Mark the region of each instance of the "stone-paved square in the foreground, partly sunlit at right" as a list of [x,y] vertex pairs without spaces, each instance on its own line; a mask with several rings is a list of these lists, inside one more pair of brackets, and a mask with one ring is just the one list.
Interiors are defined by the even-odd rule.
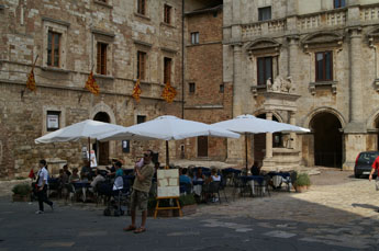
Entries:
[[[323,170],[305,193],[200,205],[183,218],[148,218],[147,231],[123,232],[130,217],[76,203],[34,215],[36,203],[0,201],[2,250],[379,250],[374,182]],[[232,201],[232,202],[231,202]]]

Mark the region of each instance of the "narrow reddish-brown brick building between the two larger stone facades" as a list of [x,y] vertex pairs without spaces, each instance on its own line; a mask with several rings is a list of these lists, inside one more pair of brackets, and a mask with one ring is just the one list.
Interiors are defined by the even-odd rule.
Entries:
[[[232,84],[223,83],[222,1],[186,12],[185,117],[203,123],[232,118]],[[226,139],[188,139],[187,158],[225,160]]]

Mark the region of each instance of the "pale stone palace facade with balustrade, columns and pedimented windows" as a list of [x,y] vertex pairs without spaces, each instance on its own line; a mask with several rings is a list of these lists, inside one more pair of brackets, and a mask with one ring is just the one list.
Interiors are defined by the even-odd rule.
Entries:
[[[263,150],[254,159],[352,169],[359,151],[378,150],[378,32],[374,0],[224,0],[223,81],[233,84],[233,116],[312,130],[252,137]],[[227,157],[241,160],[242,149],[230,140]]]

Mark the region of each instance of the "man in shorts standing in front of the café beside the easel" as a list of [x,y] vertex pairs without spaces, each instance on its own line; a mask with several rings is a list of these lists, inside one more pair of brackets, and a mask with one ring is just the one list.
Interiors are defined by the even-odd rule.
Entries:
[[[135,179],[133,184],[133,192],[131,196],[131,214],[132,214],[132,225],[124,228],[124,231],[134,230],[135,233],[141,233],[146,231],[146,218],[147,218],[147,201],[148,192],[152,186],[152,179],[154,175],[154,164],[152,163],[153,151],[147,150],[144,153],[143,162],[138,162],[134,166]],[[136,228],[135,225],[135,214],[136,207],[142,210],[142,221],[141,226]]]

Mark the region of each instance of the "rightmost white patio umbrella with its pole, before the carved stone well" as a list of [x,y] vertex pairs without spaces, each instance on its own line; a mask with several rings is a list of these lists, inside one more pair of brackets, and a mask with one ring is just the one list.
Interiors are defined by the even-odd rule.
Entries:
[[245,153],[246,153],[246,172],[247,172],[247,134],[264,134],[277,132],[309,133],[310,129],[294,126],[286,123],[268,121],[255,117],[253,115],[239,115],[233,119],[223,121],[212,124],[220,128],[228,129],[238,134],[245,134]]

